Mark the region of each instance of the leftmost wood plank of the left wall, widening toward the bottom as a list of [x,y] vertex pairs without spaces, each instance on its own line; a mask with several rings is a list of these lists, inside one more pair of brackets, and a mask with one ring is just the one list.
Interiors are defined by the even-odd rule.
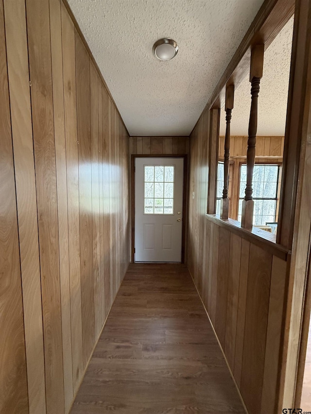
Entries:
[[3,1],[0,1],[0,79],[0,412],[27,414],[23,303]]

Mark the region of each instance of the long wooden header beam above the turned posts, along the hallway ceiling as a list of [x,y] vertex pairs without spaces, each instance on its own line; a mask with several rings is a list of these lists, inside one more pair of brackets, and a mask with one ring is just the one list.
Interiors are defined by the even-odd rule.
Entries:
[[252,46],[256,43],[264,43],[267,49],[282,27],[293,16],[294,4],[295,0],[265,0],[263,2],[190,135],[206,111],[211,107],[221,108],[224,105],[226,83],[233,84],[235,89],[239,86],[249,70]]

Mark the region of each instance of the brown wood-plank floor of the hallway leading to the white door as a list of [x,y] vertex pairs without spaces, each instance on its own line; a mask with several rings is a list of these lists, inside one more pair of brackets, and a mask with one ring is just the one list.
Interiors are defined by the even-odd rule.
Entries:
[[186,265],[131,264],[71,414],[245,413]]

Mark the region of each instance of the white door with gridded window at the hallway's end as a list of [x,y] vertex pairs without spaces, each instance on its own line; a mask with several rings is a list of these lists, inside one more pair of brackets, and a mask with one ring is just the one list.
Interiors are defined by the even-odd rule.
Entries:
[[181,262],[183,158],[136,158],[135,262]]

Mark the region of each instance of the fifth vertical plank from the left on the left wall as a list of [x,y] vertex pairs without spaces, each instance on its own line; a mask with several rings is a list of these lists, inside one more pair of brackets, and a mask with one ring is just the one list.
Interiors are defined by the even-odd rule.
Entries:
[[73,391],[75,393],[83,374],[75,34],[74,25],[63,3],[61,4],[61,21],[67,166],[72,378]]

